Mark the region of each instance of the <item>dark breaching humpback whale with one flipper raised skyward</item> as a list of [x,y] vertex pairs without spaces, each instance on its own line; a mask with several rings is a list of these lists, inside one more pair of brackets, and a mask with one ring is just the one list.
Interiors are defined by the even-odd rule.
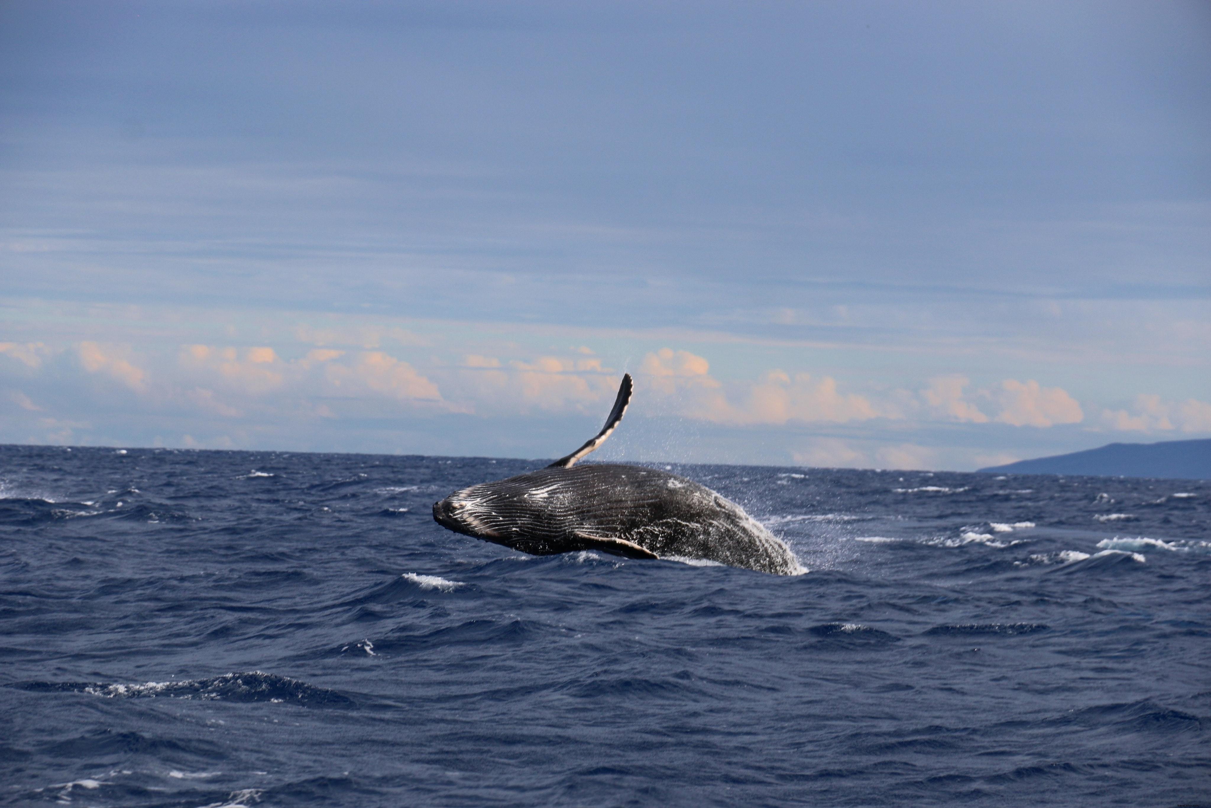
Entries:
[[624,374],[606,425],[572,454],[545,469],[455,491],[434,503],[434,520],[533,555],[601,550],[779,575],[805,572],[786,544],[706,486],[637,465],[575,465],[618,428],[632,388],[631,374]]

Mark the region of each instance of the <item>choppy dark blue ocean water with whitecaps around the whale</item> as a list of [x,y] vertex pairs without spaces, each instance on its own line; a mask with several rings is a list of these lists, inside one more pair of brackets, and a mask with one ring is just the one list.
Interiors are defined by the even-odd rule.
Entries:
[[793,578],[432,522],[535,465],[0,447],[0,801],[1211,802],[1211,483],[673,468]]

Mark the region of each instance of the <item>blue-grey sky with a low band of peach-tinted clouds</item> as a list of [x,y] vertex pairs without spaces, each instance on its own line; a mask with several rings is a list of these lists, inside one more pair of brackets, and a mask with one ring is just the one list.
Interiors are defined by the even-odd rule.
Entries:
[[1211,436],[1211,5],[0,4],[0,443]]

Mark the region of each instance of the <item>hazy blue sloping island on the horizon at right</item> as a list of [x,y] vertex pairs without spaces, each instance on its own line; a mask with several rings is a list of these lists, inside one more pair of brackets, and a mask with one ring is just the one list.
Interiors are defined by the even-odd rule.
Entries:
[[1211,480],[1211,439],[1160,443],[1109,443],[1085,452],[1018,460],[980,471]]

